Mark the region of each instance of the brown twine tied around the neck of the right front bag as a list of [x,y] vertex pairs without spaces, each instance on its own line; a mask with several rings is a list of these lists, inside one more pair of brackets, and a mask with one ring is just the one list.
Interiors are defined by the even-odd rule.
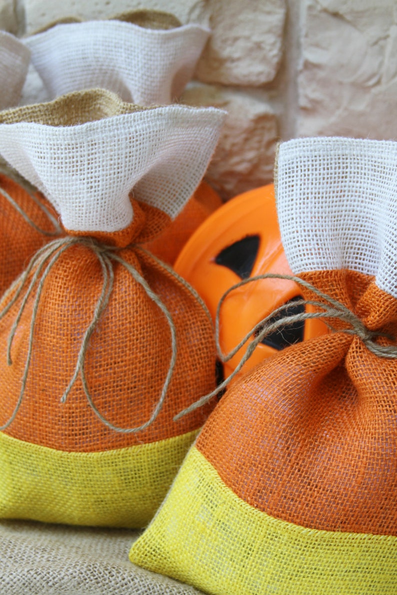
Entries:
[[[300,314],[295,314],[292,316],[285,315],[279,318],[278,320],[270,322],[272,318],[276,317],[279,314],[283,314],[287,311],[287,309],[289,308],[289,304],[285,303],[279,308],[274,309],[273,312],[271,312],[271,314],[267,315],[267,317],[263,318],[260,322],[258,322],[258,324],[256,324],[255,327],[252,328],[251,331],[249,331],[249,333],[245,335],[245,337],[243,337],[243,339],[234,349],[232,349],[229,353],[225,354],[221,349],[219,339],[221,306],[230,292],[246,285],[247,283],[252,283],[253,281],[260,281],[261,279],[285,279],[287,281],[295,281],[295,283],[298,283],[300,286],[304,287],[307,290],[310,290],[312,293],[323,299],[325,303],[319,302],[317,300],[301,299],[296,300],[294,302],[294,305],[311,305],[315,308],[321,308],[322,311],[301,312]],[[211,393],[205,394],[203,397],[201,397],[201,399],[197,400],[195,403],[192,403],[192,405],[190,405],[186,409],[183,409],[183,411],[180,411],[179,414],[177,414],[174,417],[174,421],[177,421],[184,415],[187,415],[190,412],[195,411],[195,409],[202,407],[203,405],[205,405],[205,403],[211,400],[212,397],[220,393],[222,390],[226,389],[228,384],[230,384],[230,381],[233,380],[233,378],[239,373],[240,369],[243,367],[245,362],[251,357],[256,347],[268,335],[274,333],[274,331],[276,330],[280,330],[286,324],[293,324],[294,322],[304,322],[305,320],[308,320],[308,318],[323,318],[324,323],[333,333],[345,333],[350,334],[352,336],[357,336],[359,339],[361,339],[361,341],[364,343],[365,347],[367,347],[368,350],[370,350],[372,353],[379,356],[380,358],[397,359],[397,346],[379,345],[379,343],[377,343],[375,340],[377,337],[385,337],[386,339],[395,341],[395,337],[387,333],[382,333],[380,331],[368,330],[368,328],[365,327],[364,323],[360,320],[360,318],[358,318],[358,316],[356,316],[354,312],[347,308],[345,304],[339,302],[339,300],[336,300],[333,297],[327,295],[327,293],[321,292],[319,289],[317,289],[317,287],[314,287],[307,281],[304,281],[299,277],[295,277],[294,275],[280,275],[276,273],[256,275],[255,277],[249,277],[240,281],[240,283],[236,283],[232,287],[229,287],[229,289],[227,289],[226,292],[224,292],[223,296],[218,302],[217,311],[215,314],[215,345],[217,347],[218,357],[221,359],[223,363],[226,363],[230,359],[232,359],[236,355],[236,353],[241,349],[241,347],[243,347],[248,342],[248,340],[252,337],[252,334],[254,334],[254,339],[252,339],[249,343],[245,354],[243,355],[242,359],[240,359],[239,364],[237,364],[237,367],[233,370],[232,374],[225,378],[225,380],[221,384],[219,384],[217,388],[213,390]],[[332,324],[330,324],[328,320],[332,318],[336,318],[342,322],[345,322],[349,325],[349,327],[336,329],[332,326]]]

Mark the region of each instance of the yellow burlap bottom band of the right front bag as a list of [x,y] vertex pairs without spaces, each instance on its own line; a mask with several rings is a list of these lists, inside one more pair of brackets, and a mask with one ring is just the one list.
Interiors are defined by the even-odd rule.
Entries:
[[226,487],[196,447],[130,560],[215,595],[397,593],[397,537],[268,516]]

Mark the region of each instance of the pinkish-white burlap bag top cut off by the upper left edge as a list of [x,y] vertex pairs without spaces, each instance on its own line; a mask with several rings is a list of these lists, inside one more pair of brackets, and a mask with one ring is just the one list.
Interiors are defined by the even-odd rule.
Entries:
[[11,33],[0,31],[0,109],[18,104],[29,62],[29,48]]

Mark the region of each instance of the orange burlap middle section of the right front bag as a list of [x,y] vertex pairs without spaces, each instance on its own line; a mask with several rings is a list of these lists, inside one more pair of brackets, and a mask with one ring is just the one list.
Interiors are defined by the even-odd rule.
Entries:
[[[397,336],[397,300],[370,275],[299,276],[348,306],[368,330]],[[302,294],[318,299],[303,287]],[[289,347],[233,385],[196,446],[226,486],[268,515],[397,536],[397,361],[330,322],[339,332]]]

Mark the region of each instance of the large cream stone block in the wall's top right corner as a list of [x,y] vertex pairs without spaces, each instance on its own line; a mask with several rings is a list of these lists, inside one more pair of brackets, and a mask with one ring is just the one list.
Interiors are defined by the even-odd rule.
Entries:
[[298,135],[397,137],[395,0],[307,0]]

